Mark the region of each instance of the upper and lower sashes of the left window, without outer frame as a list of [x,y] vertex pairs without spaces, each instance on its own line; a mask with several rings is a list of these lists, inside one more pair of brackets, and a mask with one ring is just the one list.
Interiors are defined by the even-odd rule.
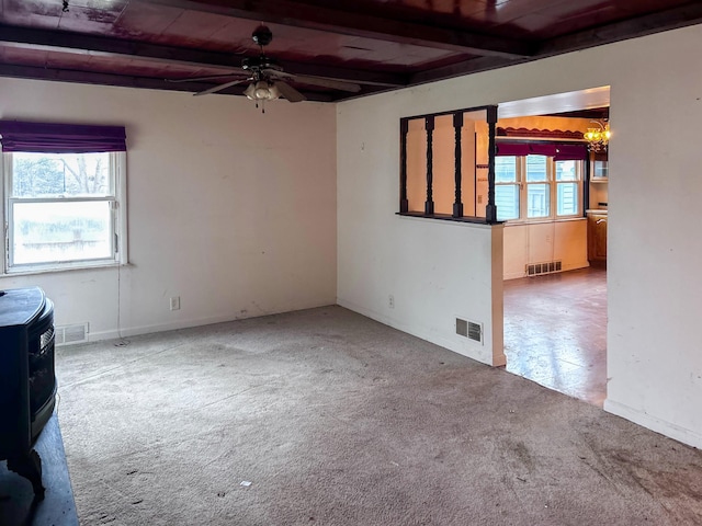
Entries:
[[11,265],[114,258],[111,153],[13,153]]

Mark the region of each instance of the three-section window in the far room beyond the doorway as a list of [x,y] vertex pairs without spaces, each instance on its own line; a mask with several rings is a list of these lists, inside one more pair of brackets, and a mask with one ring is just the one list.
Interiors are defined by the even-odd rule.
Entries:
[[581,213],[582,161],[547,156],[495,158],[495,203],[500,221],[555,219]]

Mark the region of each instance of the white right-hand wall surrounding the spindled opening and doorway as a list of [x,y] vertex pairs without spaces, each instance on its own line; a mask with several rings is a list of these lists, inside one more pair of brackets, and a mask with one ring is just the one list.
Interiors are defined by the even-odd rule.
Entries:
[[338,301],[449,348],[489,323],[485,230],[394,215],[399,117],[611,85],[605,409],[702,446],[700,57],[693,26],[339,104]]

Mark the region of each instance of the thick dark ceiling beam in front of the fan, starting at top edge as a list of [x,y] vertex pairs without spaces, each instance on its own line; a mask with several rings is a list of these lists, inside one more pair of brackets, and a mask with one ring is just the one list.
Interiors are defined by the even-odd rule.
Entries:
[[[529,57],[530,44],[427,23],[341,11],[291,0],[132,0],[271,24],[319,30],[477,56]],[[331,2],[330,2],[331,4]]]

